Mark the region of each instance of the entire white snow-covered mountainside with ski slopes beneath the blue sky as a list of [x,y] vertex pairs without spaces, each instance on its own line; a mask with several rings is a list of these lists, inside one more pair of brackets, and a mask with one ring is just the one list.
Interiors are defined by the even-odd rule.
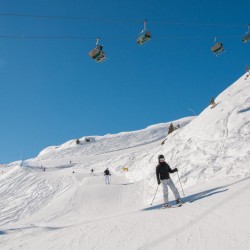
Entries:
[[[1,165],[0,249],[250,249],[250,78],[215,102],[169,135],[171,122],[88,136]],[[150,205],[159,154],[181,207],[160,209],[161,186]]]

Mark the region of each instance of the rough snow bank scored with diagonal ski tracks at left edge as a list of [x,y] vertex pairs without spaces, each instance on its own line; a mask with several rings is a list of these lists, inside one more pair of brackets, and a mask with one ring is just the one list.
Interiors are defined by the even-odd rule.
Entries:
[[51,181],[41,175],[43,172],[37,174],[17,167],[1,181],[0,226],[32,215],[70,185],[67,183],[65,186],[65,178]]

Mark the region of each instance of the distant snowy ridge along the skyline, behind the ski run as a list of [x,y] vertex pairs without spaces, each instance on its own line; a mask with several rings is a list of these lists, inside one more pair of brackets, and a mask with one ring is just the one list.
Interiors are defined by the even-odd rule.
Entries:
[[[181,127],[188,124],[193,117],[187,117],[174,121]],[[76,145],[76,140],[71,140],[60,146],[51,146],[40,152],[40,160],[46,158],[63,158],[64,156],[79,156],[105,154],[108,152],[138,147],[150,144],[155,141],[163,140],[166,137],[170,122],[149,126],[146,129],[121,132],[118,134],[108,134],[105,136],[90,136],[94,142],[85,142],[85,137],[80,138],[80,144]],[[88,136],[89,138],[89,136]]]

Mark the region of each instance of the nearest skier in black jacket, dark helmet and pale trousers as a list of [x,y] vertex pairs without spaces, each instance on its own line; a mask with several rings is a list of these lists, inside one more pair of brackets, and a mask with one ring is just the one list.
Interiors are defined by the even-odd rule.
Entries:
[[174,197],[176,199],[176,204],[181,205],[183,201],[181,200],[180,194],[169,176],[169,174],[177,172],[178,169],[177,168],[171,169],[170,166],[165,162],[165,158],[163,155],[158,156],[158,162],[159,164],[156,167],[156,178],[158,185],[162,184],[163,200],[164,200],[163,206],[166,208],[171,207],[168,204],[168,186],[170,187],[170,189],[174,194]]

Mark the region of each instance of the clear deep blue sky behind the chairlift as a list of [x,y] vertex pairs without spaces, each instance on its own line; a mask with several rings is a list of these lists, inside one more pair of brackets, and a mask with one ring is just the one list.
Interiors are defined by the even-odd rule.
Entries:
[[[0,163],[199,114],[250,64],[249,9],[249,0],[0,0]],[[145,18],[153,38],[139,47]],[[88,57],[96,37],[101,64]]]

